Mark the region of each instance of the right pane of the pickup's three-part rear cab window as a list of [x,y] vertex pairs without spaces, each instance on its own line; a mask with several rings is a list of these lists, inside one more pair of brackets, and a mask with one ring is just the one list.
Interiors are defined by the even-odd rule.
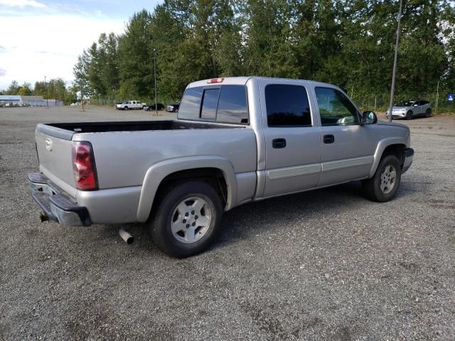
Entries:
[[216,121],[233,124],[248,123],[247,91],[244,86],[221,87]]

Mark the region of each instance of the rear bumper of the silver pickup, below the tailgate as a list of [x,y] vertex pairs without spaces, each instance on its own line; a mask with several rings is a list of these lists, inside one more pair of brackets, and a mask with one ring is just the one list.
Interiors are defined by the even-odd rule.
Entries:
[[92,220],[86,207],[71,201],[41,173],[28,174],[31,196],[50,220],[70,226],[90,226]]

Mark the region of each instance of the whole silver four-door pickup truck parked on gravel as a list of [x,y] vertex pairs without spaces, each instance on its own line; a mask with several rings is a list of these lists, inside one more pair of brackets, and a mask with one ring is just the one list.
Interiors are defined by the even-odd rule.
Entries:
[[245,202],[362,180],[392,199],[414,151],[410,129],[360,112],[338,87],[230,77],[193,82],[176,121],[38,124],[45,219],[144,222],[171,256],[206,249],[223,211]]

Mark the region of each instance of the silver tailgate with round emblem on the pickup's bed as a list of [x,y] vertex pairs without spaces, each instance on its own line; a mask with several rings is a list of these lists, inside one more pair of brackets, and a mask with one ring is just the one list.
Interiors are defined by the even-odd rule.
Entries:
[[[36,150],[40,162],[40,171],[55,185],[75,197],[73,175],[73,141],[71,135],[63,136],[52,131],[62,130],[39,124],[36,129]],[[55,131],[58,133],[58,131]],[[68,137],[70,138],[68,140]]]

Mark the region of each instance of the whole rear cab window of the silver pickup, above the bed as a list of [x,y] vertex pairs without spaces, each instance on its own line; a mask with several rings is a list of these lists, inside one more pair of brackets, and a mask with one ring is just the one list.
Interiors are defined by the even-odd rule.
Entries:
[[183,94],[178,119],[249,124],[245,85],[191,87]]

